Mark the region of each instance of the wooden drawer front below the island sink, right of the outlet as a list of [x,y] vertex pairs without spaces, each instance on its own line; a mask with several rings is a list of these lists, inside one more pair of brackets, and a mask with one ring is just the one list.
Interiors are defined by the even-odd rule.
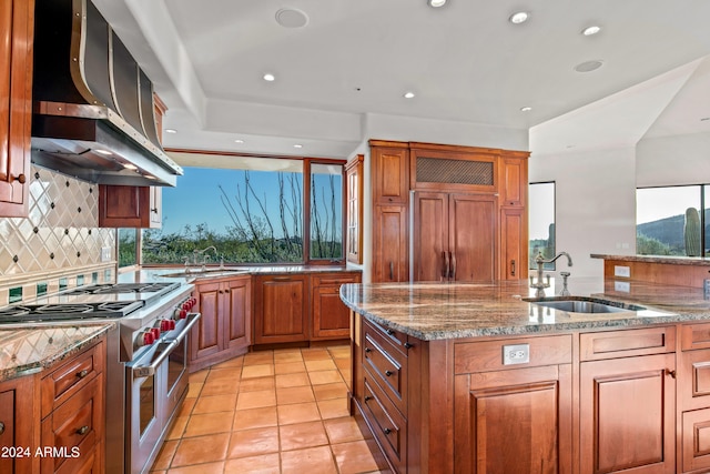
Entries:
[[676,327],[649,327],[579,335],[580,360],[632,357],[676,351]]

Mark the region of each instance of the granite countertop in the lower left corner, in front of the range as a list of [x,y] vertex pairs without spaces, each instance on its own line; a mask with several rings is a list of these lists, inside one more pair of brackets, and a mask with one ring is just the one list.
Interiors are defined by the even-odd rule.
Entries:
[[0,329],[0,382],[49,367],[103,336],[114,323]]

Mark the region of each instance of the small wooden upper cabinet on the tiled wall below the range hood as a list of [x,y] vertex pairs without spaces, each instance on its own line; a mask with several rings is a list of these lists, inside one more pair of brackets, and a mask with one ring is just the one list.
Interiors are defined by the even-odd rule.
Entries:
[[160,228],[162,188],[99,185],[100,228]]

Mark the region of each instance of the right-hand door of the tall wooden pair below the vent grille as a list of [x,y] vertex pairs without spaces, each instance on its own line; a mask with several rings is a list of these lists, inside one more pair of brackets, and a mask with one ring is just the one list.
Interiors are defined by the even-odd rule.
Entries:
[[456,281],[493,281],[497,276],[496,198],[452,194],[448,249]]

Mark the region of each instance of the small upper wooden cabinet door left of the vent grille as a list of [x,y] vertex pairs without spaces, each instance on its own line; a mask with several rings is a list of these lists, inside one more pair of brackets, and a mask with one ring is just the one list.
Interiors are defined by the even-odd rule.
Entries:
[[[409,193],[409,149],[406,143],[371,140],[374,204],[406,204]],[[385,145],[386,144],[386,145]]]

